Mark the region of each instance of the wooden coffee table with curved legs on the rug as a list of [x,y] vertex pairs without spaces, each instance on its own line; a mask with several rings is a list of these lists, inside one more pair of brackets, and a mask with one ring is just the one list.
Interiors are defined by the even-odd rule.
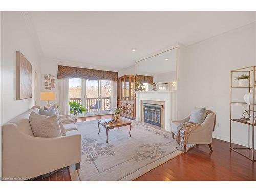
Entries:
[[[131,129],[132,129],[131,121],[128,121],[126,119],[120,119],[121,120],[120,122],[113,123],[113,124],[104,124],[103,123],[103,122],[109,122],[110,120],[111,119],[100,119],[98,122],[98,127],[99,127],[99,125],[101,125],[101,126],[105,127],[105,129],[106,129],[106,142],[107,143],[109,142],[109,129],[118,128],[118,130],[120,130],[120,127],[129,125],[130,126],[129,135],[130,135],[130,137],[132,137],[131,136]],[[100,132],[100,129],[99,129],[99,132]]]

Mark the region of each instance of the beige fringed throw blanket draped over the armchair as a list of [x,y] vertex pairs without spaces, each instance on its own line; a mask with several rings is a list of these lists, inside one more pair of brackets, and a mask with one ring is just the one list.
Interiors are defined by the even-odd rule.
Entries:
[[[207,110],[206,111],[206,117],[208,114],[213,113],[214,114],[214,128],[215,128],[215,122],[216,122],[216,115],[213,111]],[[176,141],[180,145],[180,148],[178,150],[182,150],[182,147],[187,145],[189,136],[191,135],[191,132],[200,125],[201,123],[194,123],[194,122],[185,122],[178,126],[177,134],[176,134]]]

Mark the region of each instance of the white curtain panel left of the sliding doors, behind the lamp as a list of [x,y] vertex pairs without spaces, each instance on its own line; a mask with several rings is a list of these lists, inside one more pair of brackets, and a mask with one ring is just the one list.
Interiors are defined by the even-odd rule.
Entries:
[[58,79],[57,102],[61,115],[70,114],[69,111],[69,79]]

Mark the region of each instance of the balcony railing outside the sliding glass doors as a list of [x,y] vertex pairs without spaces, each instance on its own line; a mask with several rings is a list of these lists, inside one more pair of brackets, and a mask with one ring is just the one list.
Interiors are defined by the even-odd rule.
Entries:
[[[76,101],[76,103],[82,105],[81,98],[70,98],[69,100],[71,102]],[[86,103],[84,107],[87,108],[87,113],[91,113],[91,112],[99,113],[100,111],[99,109],[105,112],[111,110],[111,97],[101,97],[101,102],[99,102],[98,106],[96,106],[98,100],[99,99],[97,97],[86,98]]]

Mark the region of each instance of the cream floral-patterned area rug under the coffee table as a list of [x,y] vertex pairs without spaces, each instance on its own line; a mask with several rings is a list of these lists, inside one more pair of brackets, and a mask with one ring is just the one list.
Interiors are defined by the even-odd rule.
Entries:
[[181,154],[169,132],[160,131],[138,122],[106,130],[98,121],[77,123],[82,135],[82,161],[78,176],[81,181],[132,181],[151,169]]

